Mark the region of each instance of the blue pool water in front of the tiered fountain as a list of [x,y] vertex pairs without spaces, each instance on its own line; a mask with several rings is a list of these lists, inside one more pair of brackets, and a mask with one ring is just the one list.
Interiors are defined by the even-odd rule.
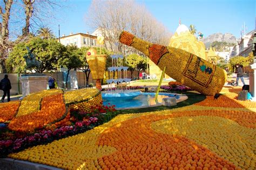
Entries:
[[[136,108],[136,107],[146,107],[156,105],[156,101],[154,100],[154,96],[156,93],[142,93],[137,97],[134,98],[123,98],[123,97],[111,97],[111,98],[104,98],[103,105],[116,105],[117,109],[123,108]],[[166,97],[174,97],[174,94],[167,94],[167,93],[159,93],[158,94],[158,103],[163,102],[163,98]],[[176,99],[179,99],[179,96],[175,96]]]

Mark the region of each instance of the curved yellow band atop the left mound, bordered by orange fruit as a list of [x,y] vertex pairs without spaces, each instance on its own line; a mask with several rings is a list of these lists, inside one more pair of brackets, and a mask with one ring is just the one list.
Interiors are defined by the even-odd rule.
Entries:
[[59,89],[51,89],[29,94],[28,96],[22,99],[21,106],[19,106],[19,110],[16,117],[38,111],[40,108],[40,101],[43,97],[58,93],[63,93],[63,91]]

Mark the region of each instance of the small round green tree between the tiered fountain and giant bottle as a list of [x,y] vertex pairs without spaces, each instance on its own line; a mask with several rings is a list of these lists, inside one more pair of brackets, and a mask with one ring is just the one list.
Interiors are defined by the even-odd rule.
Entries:
[[[140,71],[140,70],[146,69],[146,63],[147,63],[146,59],[135,53],[132,53],[131,55],[127,56],[126,62],[131,72],[131,78],[133,78],[132,73],[134,72],[134,70]],[[138,79],[139,79],[139,72],[138,72]]]

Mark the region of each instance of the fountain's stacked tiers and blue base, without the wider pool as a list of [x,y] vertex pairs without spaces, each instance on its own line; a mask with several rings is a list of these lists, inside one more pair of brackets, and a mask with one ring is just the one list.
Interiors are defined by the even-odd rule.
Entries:
[[[108,67],[110,79],[106,80],[108,90],[102,92],[104,100],[120,98],[129,100],[142,94],[139,90],[129,90],[127,85],[132,79],[127,78],[128,67],[123,66],[123,55],[112,55],[112,67]],[[114,88],[111,88],[114,86]]]

